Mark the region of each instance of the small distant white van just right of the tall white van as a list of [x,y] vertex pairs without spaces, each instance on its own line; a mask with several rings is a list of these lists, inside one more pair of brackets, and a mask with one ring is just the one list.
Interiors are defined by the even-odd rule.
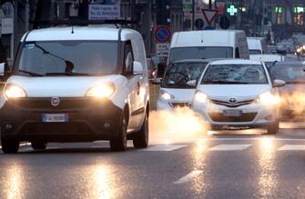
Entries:
[[249,55],[267,54],[267,44],[263,37],[247,37]]

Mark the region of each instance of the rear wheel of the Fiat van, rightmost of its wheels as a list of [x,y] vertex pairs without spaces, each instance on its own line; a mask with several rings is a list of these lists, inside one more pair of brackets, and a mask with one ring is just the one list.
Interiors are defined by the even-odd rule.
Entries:
[[133,135],[133,144],[136,148],[147,148],[148,145],[148,116],[145,114],[141,130]]

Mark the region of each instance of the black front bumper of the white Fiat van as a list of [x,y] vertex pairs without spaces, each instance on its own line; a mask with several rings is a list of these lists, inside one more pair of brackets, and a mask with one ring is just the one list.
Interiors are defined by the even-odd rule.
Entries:
[[[51,98],[6,101],[0,109],[1,137],[19,141],[90,142],[117,136],[123,110],[110,100]],[[46,123],[43,114],[66,114],[66,122]]]

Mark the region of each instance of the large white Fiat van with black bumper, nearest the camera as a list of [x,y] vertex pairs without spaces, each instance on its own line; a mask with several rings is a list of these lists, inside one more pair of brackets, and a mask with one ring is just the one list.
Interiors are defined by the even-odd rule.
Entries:
[[[127,139],[147,147],[149,88],[142,35],[101,25],[33,30],[20,41],[0,97],[1,144],[46,149],[48,142]],[[3,64],[0,74],[3,75]]]

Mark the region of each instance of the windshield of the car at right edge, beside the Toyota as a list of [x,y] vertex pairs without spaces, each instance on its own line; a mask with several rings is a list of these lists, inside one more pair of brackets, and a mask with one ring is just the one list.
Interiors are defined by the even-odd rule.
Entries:
[[302,65],[273,65],[270,75],[273,79],[280,79],[289,83],[305,83],[305,72]]

